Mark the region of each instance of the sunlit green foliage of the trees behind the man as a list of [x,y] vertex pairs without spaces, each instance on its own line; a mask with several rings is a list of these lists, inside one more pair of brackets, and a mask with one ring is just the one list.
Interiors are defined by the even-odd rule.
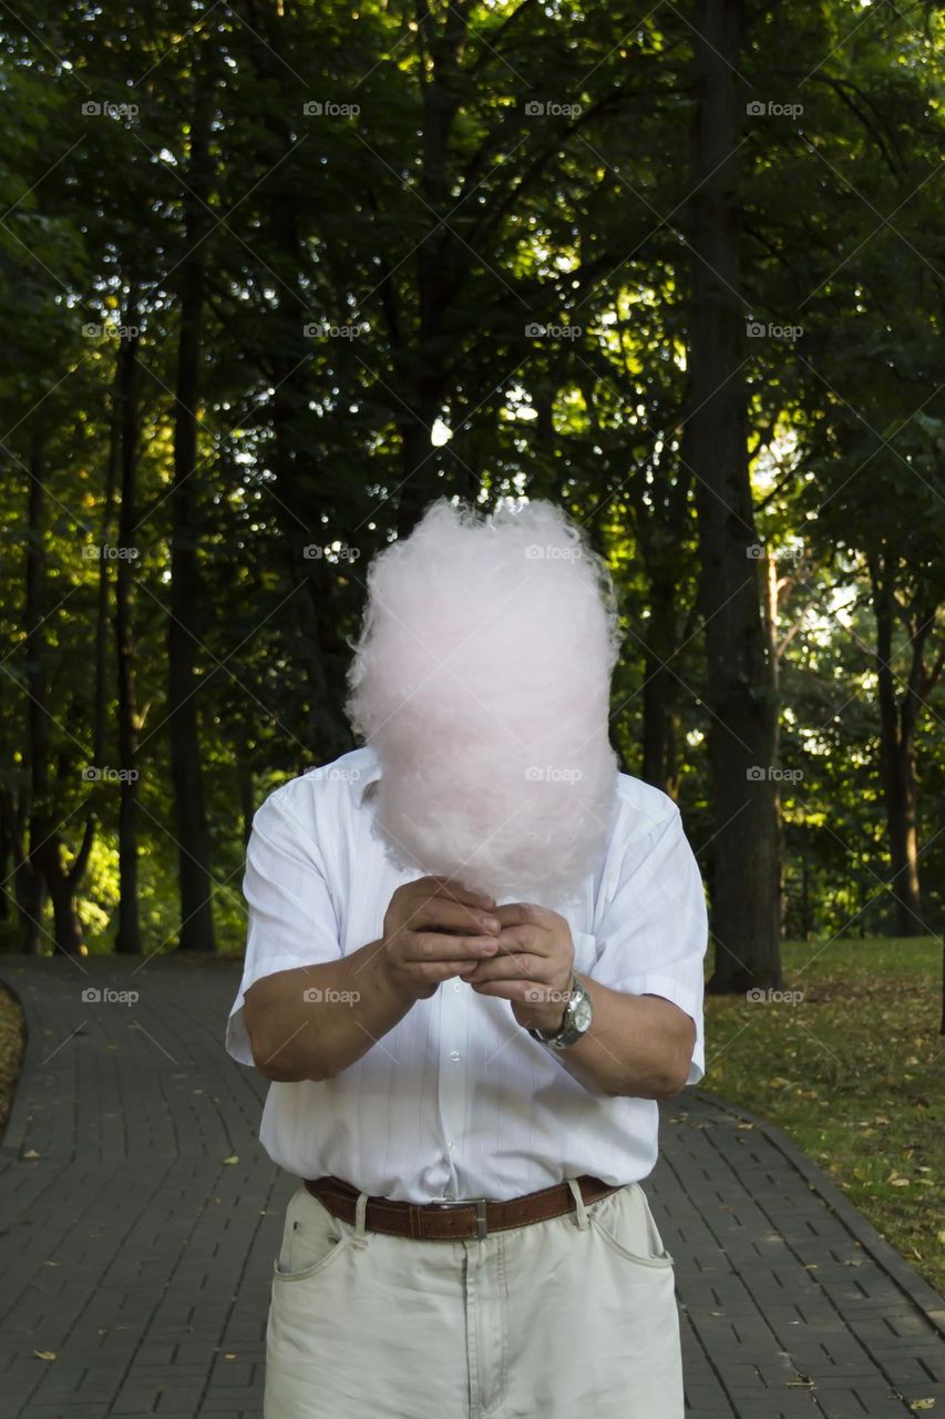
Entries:
[[[892,927],[871,559],[895,603],[901,704],[917,616],[935,622],[929,670],[942,643],[944,21],[934,9],[868,9],[752,13],[744,57],[746,105],[782,108],[745,118],[732,299],[746,322],[803,328],[746,338],[758,528],[779,579],[772,768],[800,775],[782,788],[795,934]],[[114,942],[118,790],[82,779],[99,586],[82,549],[115,538],[106,487],[128,326],[140,331],[140,907],[146,949],[176,941],[166,631],[201,105],[210,177],[196,207],[206,289],[189,535],[223,937],[238,935],[253,803],[329,752],[365,568],[399,528],[411,480],[424,498],[551,497],[586,526],[612,565],[624,629],[613,741],[644,772],[648,690],[665,666],[660,780],[711,884],[694,488],[681,454],[690,21],[623,4],[414,11],[370,0],[356,23],[333,4],[250,6],[241,17],[196,17],[176,0],[101,13],[27,4],[0,54],[0,786],[26,819],[38,640],[27,640],[24,580],[41,436],[35,654],[58,765],[48,806],[71,853],[87,813],[98,817],[78,894],[91,949]],[[802,112],[783,112],[792,105]],[[305,558],[312,546],[328,549],[318,565]],[[114,586],[109,568],[109,599]],[[112,630],[109,613],[106,763],[118,756]],[[935,931],[944,708],[939,681],[915,727],[924,920]],[[6,839],[3,851],[9,878]]]

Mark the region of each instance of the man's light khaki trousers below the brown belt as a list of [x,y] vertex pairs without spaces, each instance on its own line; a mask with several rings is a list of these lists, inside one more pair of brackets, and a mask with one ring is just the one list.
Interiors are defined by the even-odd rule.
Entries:
[[335,1218],[299,1183],[264,1419],[682,1419],[673,1257],[639,1183],[482,1242]]

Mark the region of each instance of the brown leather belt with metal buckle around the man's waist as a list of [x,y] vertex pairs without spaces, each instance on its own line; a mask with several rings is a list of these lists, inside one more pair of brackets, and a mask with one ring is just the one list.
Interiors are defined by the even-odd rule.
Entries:
[[[575,1179],[585,1202],[597,1202],[619,1186],[602,1182],[583,1174]],[[305,1178],[306,1189],[318,1198],[329,1212],[343,1222],[355,1222],[358,1188],[341,1178]],[[387,1232],[396,1237],[413,1237],[423,1242],[463,1242],[465,1237],[480,1240],[492,1232],[509,1232],[532,1222],[546,1222],[575,1210],[575,1198],[566,1182],[556,1182],[541,1192],[528,1192],[524,1198],[509,1198],[507,1202],[490,1202],[488,1198],[464,1198],[457,1202],[397,1202],[390,1198],[369,1198],[365,1212],[365,1226],[369,1232]]]

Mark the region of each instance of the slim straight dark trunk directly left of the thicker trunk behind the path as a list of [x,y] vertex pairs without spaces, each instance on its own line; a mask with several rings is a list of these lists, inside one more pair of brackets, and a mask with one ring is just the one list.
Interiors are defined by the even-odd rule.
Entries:
[[[136,298],[128,302],[128,325],[138,322]],[[138,912],[138,715],[135,708],[133,576],[131,558],[138,521],[138,343],[136,333],[122,338],[116,372],[118,448],[121,502],[115,573],[115,658],[118,666],[118,931],[115,951],[140,955]],[[101,583],[99,583],[101,585]],[[55,908],[55,898],[54,898]]]

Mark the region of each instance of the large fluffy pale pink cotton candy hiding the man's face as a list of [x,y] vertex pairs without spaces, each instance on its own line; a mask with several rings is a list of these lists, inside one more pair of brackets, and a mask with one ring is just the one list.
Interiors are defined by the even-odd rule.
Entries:
[[617,761],[606,563],[553,504],[446,498],[368,569],[348,712],[402,868],[553,905],[600,867]]

